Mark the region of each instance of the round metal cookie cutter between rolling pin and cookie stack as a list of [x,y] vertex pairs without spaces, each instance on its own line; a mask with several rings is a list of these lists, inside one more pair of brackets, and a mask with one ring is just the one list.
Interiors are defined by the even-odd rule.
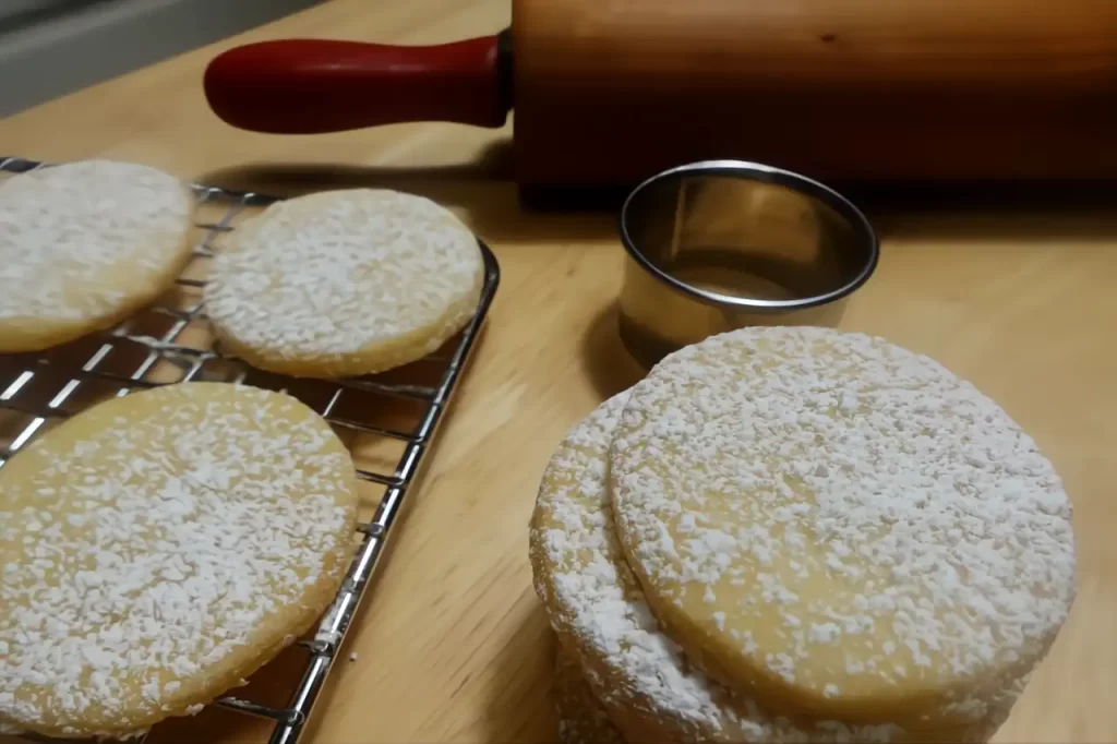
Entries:
[[834,325],[879,257],[869,220],[837,191],[733,160],[648,179],[620,232],[620,333],[645,365],[746,325]]

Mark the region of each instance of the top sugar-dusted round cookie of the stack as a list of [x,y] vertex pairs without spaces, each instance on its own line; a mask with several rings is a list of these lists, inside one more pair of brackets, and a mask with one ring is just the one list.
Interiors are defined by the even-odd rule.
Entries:
[[632,390],[610,467],[653,610],[770,707],[1001,715],[1075,595],[1051,464],[973,385],[879,338],[748,328],[679,351]]

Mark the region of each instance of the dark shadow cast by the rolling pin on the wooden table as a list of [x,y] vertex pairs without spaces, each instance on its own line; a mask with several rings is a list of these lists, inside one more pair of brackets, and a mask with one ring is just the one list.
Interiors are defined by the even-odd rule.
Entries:
[[[522,192],[507,149],[474,163],[446,166],[361,166],[343,163],[258,163],[203,174],[236,190],[294,197],[325,189],[388,188],[417,193],[459,211],[483,238],[518,242],[612,240],[623,191],[591,188]],[[933,240],[1037,237],[1117,238],[1117,200],[1108,184],[837,184],[869,216],[880,237],[897,232]]]

